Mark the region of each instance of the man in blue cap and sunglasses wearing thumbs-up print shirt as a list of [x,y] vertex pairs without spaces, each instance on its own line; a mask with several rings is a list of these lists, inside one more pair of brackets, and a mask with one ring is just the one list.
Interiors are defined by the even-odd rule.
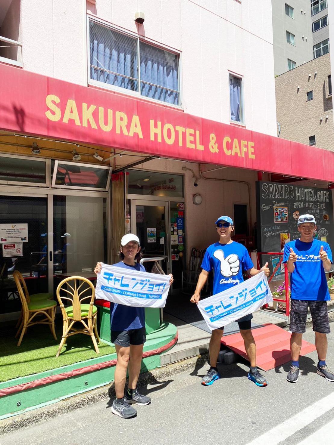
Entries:
[[[210,271],[213,271],[213,295],[244,281],[242,275],[244,270],[247,271],[250,276],[257,275],[261,271],[264,271],[265,275],[269,276],[268,263],[266,263],[260,271],[255,269],[246,247],[240,243],[236,243],[236,241],[232,241],[231,233],[234,230],[232,218],[229,216],[220,216],[215,224],[219,241],[211,244],[205,252],[201,265],[202,271],[198,278],[195,293],[191,297],[191,303],[198,303],[200,300],[200,291],[204,287]],[[267,386],[265,377],[260,374],[256,366],[256,345],[251,329],[252,318],[253,315],[249,314],[236,320],[250,362],[248,379],[253,381],[257,386]],[[220,378],[217,369],[217,359],[220,351],[220,339],[223,333],[223,327],[212,331],[209,343],[210,369],[206,376],[204,376],[202,385],[211,385],[215,380]]]

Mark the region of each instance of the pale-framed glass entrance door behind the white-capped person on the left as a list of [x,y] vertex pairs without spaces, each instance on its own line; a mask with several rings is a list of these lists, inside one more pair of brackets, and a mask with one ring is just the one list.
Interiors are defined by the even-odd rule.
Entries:
[[[170,269],[169,233],[168,233],[168,202],[145,201],[133,199],[131,201],[131,227],[135,227],[144,257],[166,256],[161,266],[168,275]],[[153,263],[145,263],[149,272]]]

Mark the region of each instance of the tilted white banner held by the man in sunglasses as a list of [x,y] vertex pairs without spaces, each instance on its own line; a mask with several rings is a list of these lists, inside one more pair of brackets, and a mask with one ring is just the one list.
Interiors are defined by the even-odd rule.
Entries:
[[218,329],[273,301],[265,272],[197,303],[208,328]]

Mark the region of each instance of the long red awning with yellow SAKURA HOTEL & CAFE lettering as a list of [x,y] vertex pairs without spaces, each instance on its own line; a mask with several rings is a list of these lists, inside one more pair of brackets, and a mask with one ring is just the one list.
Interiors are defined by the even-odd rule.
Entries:
[[4,64],[0,91],[0,129],[5,131],[333,182],[333,152],[126,94]]

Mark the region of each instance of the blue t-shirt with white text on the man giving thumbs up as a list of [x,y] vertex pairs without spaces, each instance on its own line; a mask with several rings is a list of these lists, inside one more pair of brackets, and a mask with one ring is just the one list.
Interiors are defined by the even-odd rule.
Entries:
[[291,299],[324,301],[330,300],[327,280],[322,261],[319,256],[321,246],[327,252],[328,259],[333,263],[332,252],[328,243],[314,239],[305,243],[294,239],[284,246],[283,261],[286,263],[290,255],[290,247],[297,254],[294,271],[290,274]]

